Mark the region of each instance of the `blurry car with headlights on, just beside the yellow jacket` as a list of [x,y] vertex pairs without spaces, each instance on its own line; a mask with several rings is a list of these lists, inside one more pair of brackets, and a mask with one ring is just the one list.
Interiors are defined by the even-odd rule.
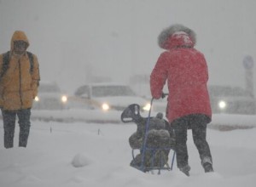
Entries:
[[56,83],[40,82],[38,95],[34,99],[33,109],[62,110],[67,108],[67,96],[61,93]]

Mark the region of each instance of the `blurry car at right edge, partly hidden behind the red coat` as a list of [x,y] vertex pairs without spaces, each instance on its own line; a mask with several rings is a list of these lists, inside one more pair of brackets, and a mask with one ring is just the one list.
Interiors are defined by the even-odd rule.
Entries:
[[252,95],[239,87],[209,86],[212,113],[247,114],[256,113],[256,102]]

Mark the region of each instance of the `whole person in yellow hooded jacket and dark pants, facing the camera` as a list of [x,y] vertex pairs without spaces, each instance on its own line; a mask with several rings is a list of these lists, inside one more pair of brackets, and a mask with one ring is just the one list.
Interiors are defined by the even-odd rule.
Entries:
[[3,116],[4,147],[14,146],[15,119],[20,125],[19,146],[26,147],[33,99],[40,81],[38,57],[27,52],[24,31],[15,31],[10,51],[0,54],[0,107]]

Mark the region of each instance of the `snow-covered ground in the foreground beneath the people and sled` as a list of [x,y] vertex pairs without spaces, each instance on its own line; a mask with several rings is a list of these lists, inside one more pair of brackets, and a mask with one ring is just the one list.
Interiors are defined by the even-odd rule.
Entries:
[[[250,117],[253,123],[253,116],[215,117],[218,122],[230,123],[230,126],[238,122],[248,124],[246,119]],[[189,131],[189,164],[192,167],[189,178],[178,171],[176,164],[171,172],[160,175],[142,173],[130,167],[128,138],[135,130],[133,123],[32,121],[27,148],[17,147],[17,126],[15,148],[5,150],[3,122],[0,121],[0,186],[255,186],[256,128],[208,129],[214,173],[203,172]]]

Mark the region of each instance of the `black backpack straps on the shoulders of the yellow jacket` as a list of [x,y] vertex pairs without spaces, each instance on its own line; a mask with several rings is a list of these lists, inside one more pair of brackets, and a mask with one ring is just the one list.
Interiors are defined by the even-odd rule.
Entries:
[[[9,51],[3,54],[3,66],[2,71],[0,72],[0,79],[4,76],[6,71],[9,69]],[[34,68],[34,60],[33,60],[33,54],[31,52],[26,52],[29,62],[30,62],[30,73],[32,74],[33,68]]]

